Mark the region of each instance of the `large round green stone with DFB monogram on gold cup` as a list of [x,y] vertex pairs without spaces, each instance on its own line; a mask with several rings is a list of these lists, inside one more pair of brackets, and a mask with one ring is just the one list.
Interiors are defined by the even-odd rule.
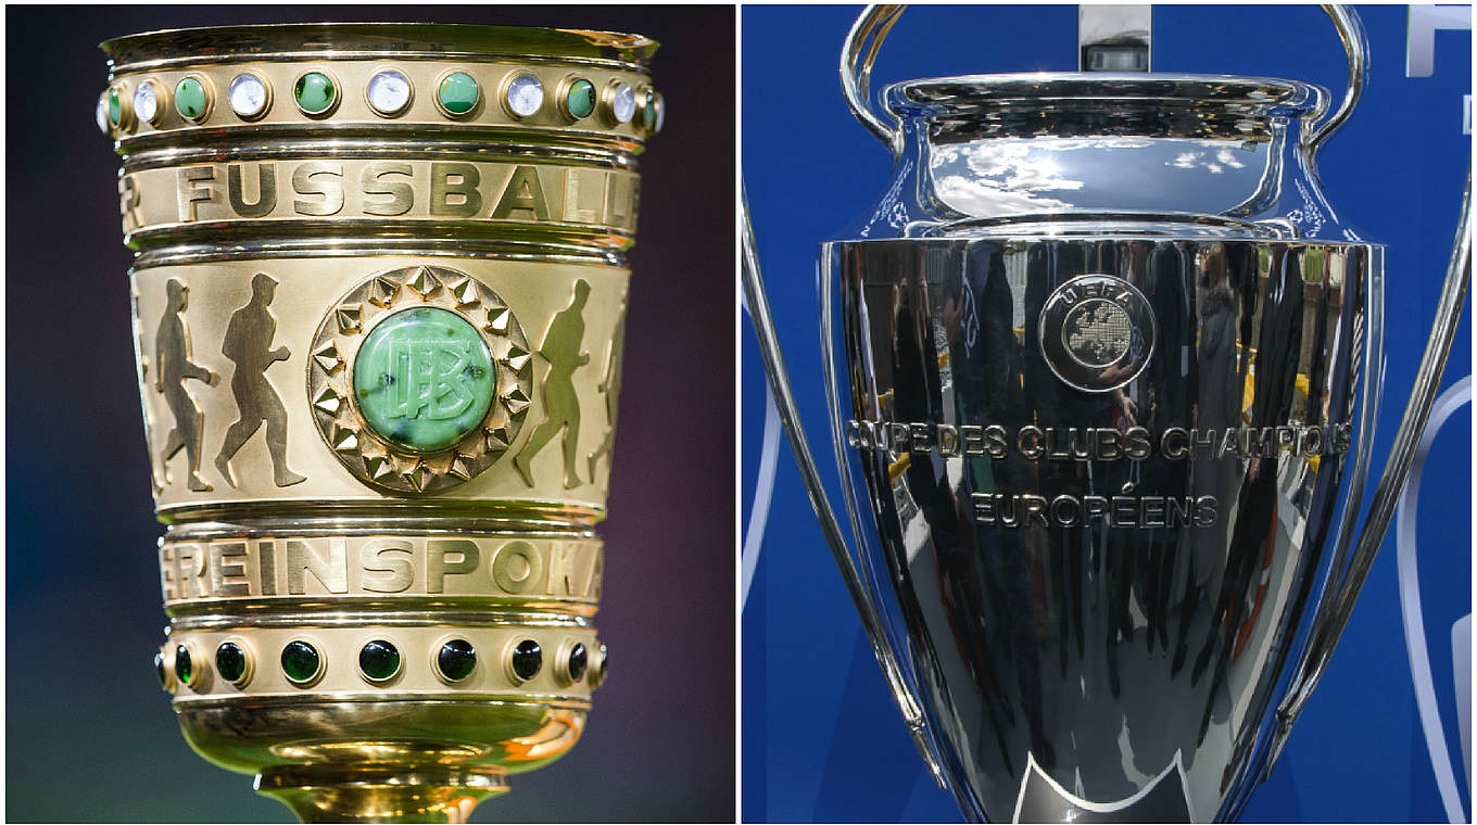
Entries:
[[437,307],[391,314],[354,356],[360,415],[381,438],[417,453],[445,450],[477,429],[496,387],[482,334]]

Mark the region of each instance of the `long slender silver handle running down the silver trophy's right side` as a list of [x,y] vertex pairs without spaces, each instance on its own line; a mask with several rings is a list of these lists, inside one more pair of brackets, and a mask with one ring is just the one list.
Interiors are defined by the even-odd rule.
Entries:
[[[1436,391],[1442,384],[1442,373],[1446,370],[1446,357],[1452,351],[1452,339],[1456,336],[1456,323],[1461,319],[1462,303],[1467,298],[1467,285],[1471,280],[1471,199],[1473,173],[1467,167],[1467,189],[1462,193],[1461,223],[1456,226],[1456,241],[1452,246],[1452,257],[1446,266],[1446,280],[1442,285],[1442,297],[1436,306],[1436,320],[1431,326],[1431,336],[1425,342],[1425,353],[1421,356],[1421,366],[1415,373],[1415,385],[1411,388],[1411,400],[1406,401],[1405,416],[1394,435],[1394,446],[1380,474],[1380,484],[1375,487],[1374,503],[1365,515],[1359,537],[1354,540],[1354,550],[1347,570],[1343,561],[1349,548],[1349,531],[1341,530],[1340,548],[1334,555],[1334,567],[1329,571],[1329,590],[1317,608],[1313,620],[1307,651],[1292,677],[1291,689],[1278,707],[1278,728],[1272,739],[1272,759],[1267,760],[1266,772],[1270,773],[1276,764],[1282,747],[1286,744],[1292,723],[1297,722],[1309,695],[1317,680],[1328,669],[1328,661],[1334,655],[1338,638],[1349,624],[1349,617],[1354,608],[1354,599],[1363,587],[1369,568],[1374,565],[1375,553],[1384,542],[1385,528],[1399,503],[1400,490],[1405,487],[1411,472],[1411,462],[1415,459],[1421,432],[1431,416],[1431,404],[1436,401]],[[1371,416],[1369,404],[1365,404],[1365,416]],[[1350,499],[1344,505],[1346,522],[1351,522],[1349,511],[1359,509],[1359,491],[1362,486],[1350,489]],[[1353,514],[1357,517],[1357,512]],[[1267,773],[1263,773],[1263,779]]]

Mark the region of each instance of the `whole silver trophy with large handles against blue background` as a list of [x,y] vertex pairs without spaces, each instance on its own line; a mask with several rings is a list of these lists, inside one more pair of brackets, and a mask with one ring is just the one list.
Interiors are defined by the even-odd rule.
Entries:
[[1359,528],[1382,249],[1319,186],[1366,69],[1357,18],[1326,9],[1350,69],[1326,120],[1304,83],[1142,74],[1146,9],[1087,6],[1083,68],[1114,71],[898,83],[879,112],[868,74],[901,7],[861,15],[842,87],[894,177],[820,261],[855,555],[744,223],[781,421],[914,741],[969,819],[1233,819],[1349,618],[1456,329],[1470,204]]

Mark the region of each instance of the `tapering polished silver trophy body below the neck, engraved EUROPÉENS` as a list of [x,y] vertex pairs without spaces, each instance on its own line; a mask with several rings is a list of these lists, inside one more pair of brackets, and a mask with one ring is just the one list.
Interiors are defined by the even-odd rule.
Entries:
[[[864,559],[967,816],[1245,803],[1328,570],[1380,260],[1250,239],[826,245]],[[1156,320],[1142,372],[1108,391],[1062,381],[1040,345],[1083,273]]]

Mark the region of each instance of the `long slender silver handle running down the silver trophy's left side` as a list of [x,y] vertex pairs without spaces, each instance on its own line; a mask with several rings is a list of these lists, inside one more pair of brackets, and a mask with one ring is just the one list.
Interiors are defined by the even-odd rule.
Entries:
[[898,664],[897,655],[888,645],[882,615],[877,605],[873,604],[867,595],[857,559],[846,543],[846,537],[840,531],[840,521],[836,518],[836,511],[826,497],[826,489],[821,486],[820,468],[815,463],[814,453],[811,453],[811,444],[805,437],[805,425],[801,422],[801,410],[795,403],[795,391],[790,387],[790,373],[784,366],[784,353],[780,350],[780,336],[775,332],[774,316],[770,311],[770,297],[764,289],[764,276],[759,269],[759,251],[755,245],[753,226],[749,220],[747,190],[741,193],[741,198],[743,202],[738,223],[743,235],[741,269],[744,298],[749,301],[749,314],[753,317],[755,335],[759,339],[759,353],[764,357],[764,372],[770,381],[770,391],[774,394],[774,406],[780,413],[780,424],[784,425],[784,434],[790,441],[790,450],[795,453],[795,463],[799,465],[801,478],[805,481],[805,491],[809,494],[811,506],[815,508],[815,517],[821,522],[821,533],[826,534],[826,545],[836,558],[836,567],[840,568],[842,580],[846,583],[846,592],[851,595],[851,602],[857,608],[857,614],[861,617],[861,626],[867,632],[867,641],[871,643],[871,652],[877,657],[877,664],[882,666],[882,673],[888,680],[888,688],[892,691],[892,698],[897,700],[898,708],[902,711],[902,719],[907,722],[908,733],[913,736],[913,745],[917,747],[919,756],[923,757],[925,764],[928,764],[929,772],[933,775],[933,781],[938,782],[939,788],[947,790],[944,770],[939,766],[938,759],[933,756],[933,748],[929,744],[922,704],[917,697],[913,695],[913,688],[902,676],[902,667]]

